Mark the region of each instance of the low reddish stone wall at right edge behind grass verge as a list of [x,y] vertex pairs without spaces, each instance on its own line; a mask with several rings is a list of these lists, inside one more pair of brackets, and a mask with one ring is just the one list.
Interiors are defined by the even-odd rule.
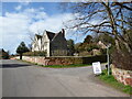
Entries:
[[117,68],[114,65],[111,65],[111,70],[112,70],[113,77],[118,81],[124,85],[132,86],[132,70],[120,69],[120,68]]

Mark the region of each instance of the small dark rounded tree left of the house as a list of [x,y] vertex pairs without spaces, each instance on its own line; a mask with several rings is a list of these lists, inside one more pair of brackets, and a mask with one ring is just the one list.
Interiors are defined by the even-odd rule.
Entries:
[[21,44],[16,48],[16,53],[20,54],[20,59],[22,59],[22,54],[29,52],[29,48],[25,46],[24,42],[21,42]]

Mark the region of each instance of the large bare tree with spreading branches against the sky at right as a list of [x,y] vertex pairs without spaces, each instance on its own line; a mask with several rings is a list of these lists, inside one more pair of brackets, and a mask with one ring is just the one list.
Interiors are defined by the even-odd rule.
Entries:
[[128,40],[128,31],[132,26],[131,2],[76,2],[67,6],[76,14],[74,20],[68,21],[67,29],[110,34],[119,52],[123,46],[132,53],[132,42]]

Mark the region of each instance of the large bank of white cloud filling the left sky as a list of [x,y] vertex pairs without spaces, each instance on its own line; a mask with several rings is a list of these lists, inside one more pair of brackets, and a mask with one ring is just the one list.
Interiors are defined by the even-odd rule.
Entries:
[[[16,7],[15,10],[20,10]],[[44,30],[58,32],[64,28],[64,22],[73,19],[72,13],[63,13],[48,15],[43,11],[44,8],[30,8],[19,12],[6,12],[4,16],[0,16],[2,24],[0,24],[0,36],[2,36],[3,47],[15,53],[16,46],[24,41],[26,44],[31,43],[29,33],[36,33]],[[1,34],[2,33],[2,34]],[[68,34],[67,34],[68,35]]]

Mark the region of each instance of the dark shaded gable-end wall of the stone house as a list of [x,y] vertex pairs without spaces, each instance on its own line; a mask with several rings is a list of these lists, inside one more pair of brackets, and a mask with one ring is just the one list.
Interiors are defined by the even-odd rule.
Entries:
[[67,56],[67,42],[62,33],[51,41],[51,56]]

